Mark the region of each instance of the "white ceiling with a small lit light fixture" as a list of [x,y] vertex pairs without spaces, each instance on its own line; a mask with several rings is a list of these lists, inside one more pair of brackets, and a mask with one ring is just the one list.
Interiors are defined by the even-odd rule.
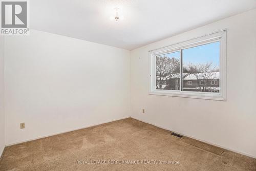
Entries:
[[[124,20],[110,20],[119,7]],[[256,8],[256,0],[32,0],[30,28],[132,50]]]

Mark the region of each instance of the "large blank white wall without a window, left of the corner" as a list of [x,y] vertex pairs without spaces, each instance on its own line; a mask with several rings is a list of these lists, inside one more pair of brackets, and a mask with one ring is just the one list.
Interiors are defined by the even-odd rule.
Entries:
[[5,45],[6,144],[130,116],[130,51],[36,30]]

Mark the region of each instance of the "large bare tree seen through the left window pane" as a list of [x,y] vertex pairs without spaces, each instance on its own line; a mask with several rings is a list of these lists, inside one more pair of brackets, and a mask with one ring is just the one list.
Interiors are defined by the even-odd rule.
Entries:
[[173,77],[173,74],[180,67],[179,59],[167,56],[156,57],[156,87],[163,89],[163,85],[167,84],[167,80]]

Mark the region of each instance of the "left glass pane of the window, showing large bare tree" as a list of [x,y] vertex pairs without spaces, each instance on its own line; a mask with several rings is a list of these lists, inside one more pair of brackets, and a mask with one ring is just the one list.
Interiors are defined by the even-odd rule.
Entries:
[[156,89],[180,90],[180,51],[156,56]]

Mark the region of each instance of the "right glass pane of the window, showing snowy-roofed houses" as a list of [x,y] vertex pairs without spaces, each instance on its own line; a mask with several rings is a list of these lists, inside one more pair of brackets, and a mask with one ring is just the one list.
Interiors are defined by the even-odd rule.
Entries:
[[182,50],[182,91],[220,92],[220,42]]

